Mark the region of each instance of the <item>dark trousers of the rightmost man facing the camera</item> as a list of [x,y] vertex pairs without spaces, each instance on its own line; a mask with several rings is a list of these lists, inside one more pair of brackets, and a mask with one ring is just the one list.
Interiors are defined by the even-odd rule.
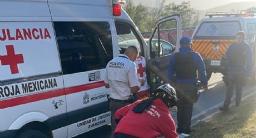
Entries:
[[228,107],[231,103],[231,97],[233,95],[234,88],[236,86],[236,104],[241,103],[242,98],[242,86],[243,81],[245,81],[245,76],[243,71],[228,71],[228,88],[226,89],[226,98],[224,101],[224,106]]

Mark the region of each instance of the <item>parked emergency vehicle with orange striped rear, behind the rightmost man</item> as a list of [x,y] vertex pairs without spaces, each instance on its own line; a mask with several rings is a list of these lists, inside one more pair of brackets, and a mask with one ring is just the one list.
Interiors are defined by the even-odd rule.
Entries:
[[[239,14],[223,12],[209,12],[208,18],[200,20],[193,32],[193,49],[200,53],[205,62],[207,77],[212,73],[226,75],[227,61],[223,60],[231,43],[235,42],[236,33],[245,31],[245,41],[254,54],[255,64],[255,35],[256,17],[251,11],[241,11]],[[252,80],[255,81],[255,66],[252,71]]]

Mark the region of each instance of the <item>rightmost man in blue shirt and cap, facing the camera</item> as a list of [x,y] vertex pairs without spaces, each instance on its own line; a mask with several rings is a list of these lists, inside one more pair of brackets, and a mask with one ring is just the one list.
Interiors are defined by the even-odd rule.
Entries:
[[241,103],[242,86],[246,80],[251,80],[252,73],[252,49],[245,43],[245,32],[239,31],[236,34],[236,43],[231,44],[226,51],[228,58],[228,88],[224,105],[219,110],[227,111],[231,103],[234,86],[236,86],[236,107]]

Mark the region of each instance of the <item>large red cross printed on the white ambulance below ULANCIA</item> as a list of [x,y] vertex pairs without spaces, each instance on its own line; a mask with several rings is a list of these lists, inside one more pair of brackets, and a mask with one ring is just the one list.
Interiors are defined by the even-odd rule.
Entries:
[[13,45],[6,45],[7,55],[0,56],[2,65],[10,65],[11,74],[19,73],[17,64],[24,63],[22,54],[15,54]]

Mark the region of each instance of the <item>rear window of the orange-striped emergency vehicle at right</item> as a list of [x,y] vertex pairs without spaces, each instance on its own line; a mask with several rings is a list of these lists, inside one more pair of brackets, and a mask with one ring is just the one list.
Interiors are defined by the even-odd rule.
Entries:
[[202,22],[193,39],[234,39],[240,30],[238,21]]

